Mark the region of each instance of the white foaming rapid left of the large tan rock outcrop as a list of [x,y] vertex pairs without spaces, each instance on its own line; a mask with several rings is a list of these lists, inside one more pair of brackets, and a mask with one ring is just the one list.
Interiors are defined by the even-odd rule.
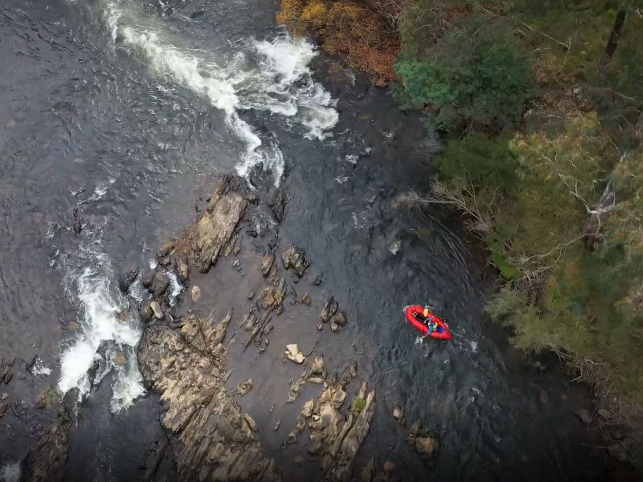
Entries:
[[[82,330],[62,352],[57,387],[62,393],[77,389],[78,400],[82,401],[107,373],[113,372],[112,408],[120,410],[145,393],[135,353],[141,329],[138,319],[118,320],[118,313],[127,308],[127,303],[111,285],[114,273],[109,258],[87,248],[82,249],[81,256],[87,265],[69,268],[67,281],[69,291],[77,292],[78,323]],[[106,346],[122,350],[134,364],[133,371],[118,370],[112,361],[113,353]],[[98,370],[92,376],[96,365]]]

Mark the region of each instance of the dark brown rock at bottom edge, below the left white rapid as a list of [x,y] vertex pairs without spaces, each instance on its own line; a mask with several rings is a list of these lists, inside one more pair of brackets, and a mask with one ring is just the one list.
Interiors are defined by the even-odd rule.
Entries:
[[57,482],[64,479],[70,428],[68,409],[62,407],[56,422],[46,429],[37,445],[24,458],[22,480]]

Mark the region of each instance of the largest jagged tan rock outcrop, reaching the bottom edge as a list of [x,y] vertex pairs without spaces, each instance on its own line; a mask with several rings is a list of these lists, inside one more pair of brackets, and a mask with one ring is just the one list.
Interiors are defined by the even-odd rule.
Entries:
[[213,314],[192,314],[180,329],[152,326],[145,333],[141,371],[167,412],[163,425],[181,448],[176,466],[181,480],[279,481],[273,460],[224,384],[227,349],[222,344],[231,313],[215,324]]

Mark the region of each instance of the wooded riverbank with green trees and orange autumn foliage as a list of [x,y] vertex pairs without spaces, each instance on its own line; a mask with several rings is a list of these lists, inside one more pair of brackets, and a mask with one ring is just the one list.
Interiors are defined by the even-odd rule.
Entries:
[[[399,202],[464,214],[505,280],[489,316],[511,326],[516,347],[552,350],[596,386],[610,453],[638,460],[640,12],[626,4],[357,5],[371,21],[341,31],[373,59],[376,46],[397,40],[394,93],[446,140],[428,193]],[[277,18],[321,35],[322,48],[328,31],[340,30],[312,1],[284,1]],[[381,82],[383,69],[352,60],[352,42],[330,51]]]

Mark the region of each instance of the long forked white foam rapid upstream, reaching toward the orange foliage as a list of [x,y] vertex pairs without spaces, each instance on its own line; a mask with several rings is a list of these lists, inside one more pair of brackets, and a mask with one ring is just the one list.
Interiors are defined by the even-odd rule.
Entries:
[[107,27],[116,29],[113,39],[118,35],[130,51],[147,59],[157,75],[205,96],[224,112],[226,126],[245,145],[237,164],[240,175],[247,178],[254,166],[261,165],[273,171],[278,185],[284,171],[284,157],[276,153],[276,143],[263,148],[253,128],[240,118],[240,110],[285,116],[305,128],[305,138],[332,135],[329,130],[339,120],[336,101],[311,77],[308,64],[317,52],[306,40],[284,33],[272,40],[237,42],[239,51],[217,54],[186,48],[183,40],[174,39],[152,19],[128,22],[135,18],[129,10],[123,14],[128,2],[111,1],[106,6]]

